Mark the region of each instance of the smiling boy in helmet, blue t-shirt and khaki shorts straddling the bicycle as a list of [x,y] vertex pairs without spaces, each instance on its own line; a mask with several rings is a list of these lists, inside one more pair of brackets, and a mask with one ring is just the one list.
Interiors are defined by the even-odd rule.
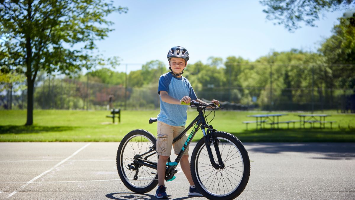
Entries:
[[[169,69],[171,72],[165,73],[159,78],[158,94],[160,95],[160,113],[158,115],[158,136],[157,136],[157,154],[158,159],[158,189],[155,197],[162,199],[167,198],[164,178],[166,161],[171,154],[171,146],[174,146],[175,154],[178,154],[184,145],[187,136],[185,135],[174,144],[173,139],[180,135],[185,129],[187,118],[187,106],[181,105],[181,101],[189,103],[195,100],[200,103],[206,103],[197,99],[195,92],[190,85],[189,80],[182,77],[187,61],[189,60],[189,52],[184,47],[173,47],[166,56],[169,60]],[[217,100],[212,103],[219,104]],[[181,169],[190,183],[189,195],[202,196],[193,183],[190,162],[189,149],[182,156],[180,161]]]

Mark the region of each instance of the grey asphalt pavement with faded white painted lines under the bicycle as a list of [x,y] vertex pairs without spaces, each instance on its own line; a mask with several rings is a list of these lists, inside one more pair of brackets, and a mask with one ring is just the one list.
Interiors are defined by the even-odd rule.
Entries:
[[[0,199],[155,199],[155,190],[135,194],[121,183],[118,145],[0,143]],[[355,199],[355,143],[245,146],[251,175],[237,199]],[[204,199],[187,194],[189,184],[180,172],[166,183],[169,199]]]

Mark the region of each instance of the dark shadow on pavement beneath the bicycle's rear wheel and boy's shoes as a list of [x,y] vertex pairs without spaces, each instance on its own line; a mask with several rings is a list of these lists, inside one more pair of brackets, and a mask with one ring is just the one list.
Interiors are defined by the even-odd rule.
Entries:
[[[157,199],[154,195],[137,194],[137,193],[111,193],[111,194],[107,194],[106,197],[109,198],[109,199],[115,199],[115,200],[128,200],[128,199],[148,200],[148,199]],[[198,197],[201,198],[201,196],[186,196],[186,197],[176,198],[176,199],[172,199],[170,197],[171,197],[171,195],[168,195],[168,199],[171,199],[171,200],[184,200],[184,199],[198,198]]]

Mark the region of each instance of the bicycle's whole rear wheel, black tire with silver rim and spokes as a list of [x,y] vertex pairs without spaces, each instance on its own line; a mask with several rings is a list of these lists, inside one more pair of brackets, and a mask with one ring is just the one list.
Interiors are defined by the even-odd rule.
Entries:
[[[155,145],[156,142],[157,139],[152,133],[137,129],[127,133],[117,149],[116,165],[120,179],[128,189],[135,193],[147,193],[158,185],[156,169],[140,166],[137,174],[138,180],[134,180],[136,171],[127,167],[128,164],[132,163],[133,156],[149,151],[149,147]],[[147,159],[158,162],[157,153],[155,152],[153,156]]]

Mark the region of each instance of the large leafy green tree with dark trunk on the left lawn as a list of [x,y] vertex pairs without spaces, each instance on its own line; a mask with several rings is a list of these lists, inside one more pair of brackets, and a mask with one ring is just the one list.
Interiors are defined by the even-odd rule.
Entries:
[[[33,88],[37,73],[80,71],[107,37],[112,12],[127,12],[102,0],[1,0],[0,66],[18,66],[27,77],[27,121],[33,124]],[[7,54],[8,56],[4,56]]]

